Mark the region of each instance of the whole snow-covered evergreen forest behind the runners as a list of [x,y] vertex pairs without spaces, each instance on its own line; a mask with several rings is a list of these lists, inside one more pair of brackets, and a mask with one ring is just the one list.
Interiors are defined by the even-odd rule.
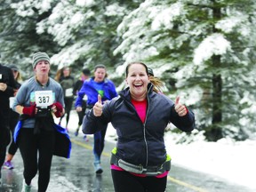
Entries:
[[196,114],[180,142],[255,140],[254,0],[4,0],[0,11],[1,63],[23,79],[33,53],[47,52],[52,76],[104,64],[120,90],[125,65],[140,60]]

